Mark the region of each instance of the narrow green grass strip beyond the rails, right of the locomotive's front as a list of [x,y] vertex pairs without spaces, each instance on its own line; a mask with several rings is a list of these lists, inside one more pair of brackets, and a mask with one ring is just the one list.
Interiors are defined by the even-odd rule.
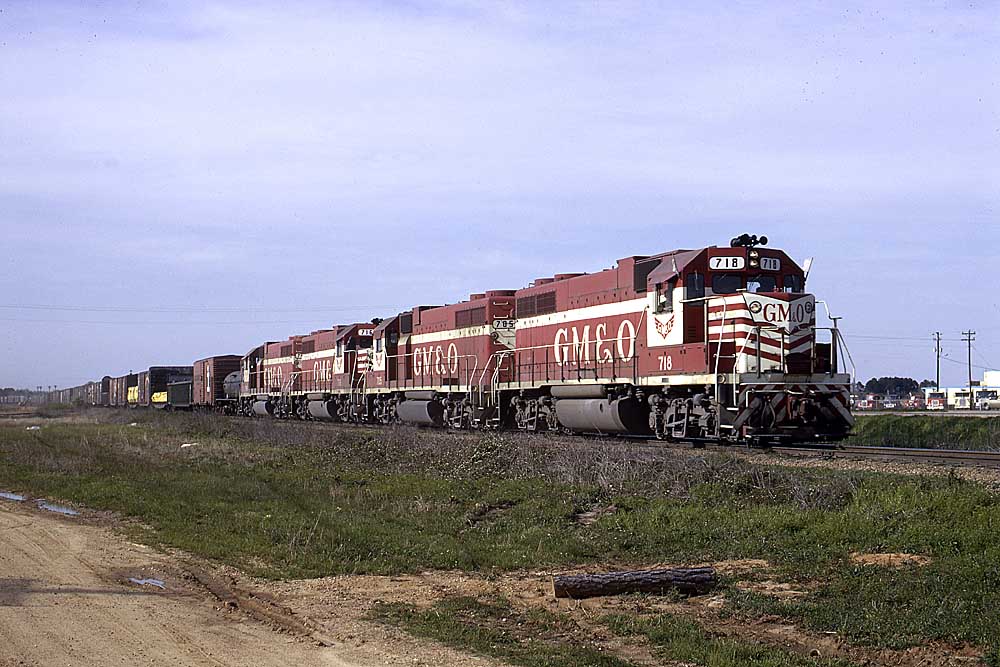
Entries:
[[858,415],[855,445],[1000,450],[1000,417]]

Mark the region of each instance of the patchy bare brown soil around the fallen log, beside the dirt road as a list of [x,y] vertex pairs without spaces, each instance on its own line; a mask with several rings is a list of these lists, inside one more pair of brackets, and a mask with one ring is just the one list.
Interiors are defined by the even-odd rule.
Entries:
[[[683,564],[662,563],[655,567],[677,567]],[[691,564],[687,564],[690,566]],[[770,570],[767,561],[758,559],[700,563],[720,572],[740,576],[737,588],[774,595],[791,602],[806,591],[771,579],[757,581],[755,577]],[[582,571],[582,570],[581,570]],[[562,571],[560,571],[562,572]],[[725,597],[708,594],[681,601],[648,597],[607,597],[587,600],[557,599],[552,594],[551,577],[555,572],[535,571],[483,577],[465,572],[424,572],[397,577],[338,576],[285,582],[255,581],[253,585],[268,590],[290,607],[327,627],[340,628],[345,640],[362,632],[365,612],[377,602],[403,602],[430,606],[434,602],[456,595],[489,597],[502,595],[522,609],[542,608],[569,614],[581,627],[590,630],[596,645],[604,650],[640,665],[671,664],[659,661],[652,648],[637,637],[623,640],[613,636],[597,623],[607,614],[672,613],[696,620],[710,632],[720,636],[753,638],[761,643],[781,646],[803,655],[841,657],[859,665],[891,667],[960,667],[981,664],[982,653],[973,647],[932,644],[905,650],[868,649],[852,646],[835,634],[816,633],[789,624],[778,617],[753,620],[733,618],[720,613]]]

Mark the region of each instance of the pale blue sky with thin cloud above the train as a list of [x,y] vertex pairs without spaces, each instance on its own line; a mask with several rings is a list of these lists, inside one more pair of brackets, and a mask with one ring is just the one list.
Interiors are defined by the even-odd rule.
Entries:
[[[280,6],[278,6],[280,5]],[[0,2],[0,386],[766,234],[1000,364],[1000,3]]]

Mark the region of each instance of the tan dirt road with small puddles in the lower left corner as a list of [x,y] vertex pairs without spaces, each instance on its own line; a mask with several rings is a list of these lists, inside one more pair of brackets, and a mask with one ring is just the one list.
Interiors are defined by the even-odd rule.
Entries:
[[377,628],[317,646],[226,610],[173,558],[100,524],[0,499],[0,667],[488,664]]

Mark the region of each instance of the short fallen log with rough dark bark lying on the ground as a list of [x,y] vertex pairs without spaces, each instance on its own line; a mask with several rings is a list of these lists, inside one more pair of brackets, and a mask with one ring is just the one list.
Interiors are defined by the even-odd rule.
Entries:
[[622,593],[663,595],[676,591],[684,595],[702,595],[715,588],[716,584],[718,579],[714,569],[695,567],[557,575],[552,578],[552,591],[557,598],[576,600]]

